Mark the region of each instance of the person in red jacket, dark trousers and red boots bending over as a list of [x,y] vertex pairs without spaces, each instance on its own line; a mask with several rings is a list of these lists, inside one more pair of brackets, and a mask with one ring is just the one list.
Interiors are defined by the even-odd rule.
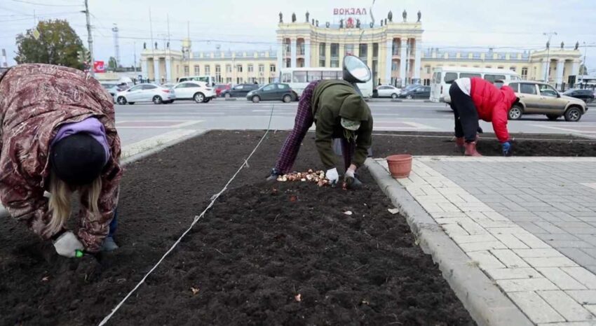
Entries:
[[503,155],[511,152],[507,113],[519,101],[508,87],[497,88],[482,78],[459,78],[449,87],[451,109],[455,118],[456,146],[465,148],[464,155],[482,156],[476,150],[478,119],[492,122],[496,138],[501,142]]

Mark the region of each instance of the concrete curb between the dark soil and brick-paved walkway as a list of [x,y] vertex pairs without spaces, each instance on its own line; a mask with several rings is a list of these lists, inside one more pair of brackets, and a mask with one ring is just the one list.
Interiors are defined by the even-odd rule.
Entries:
[[478,325],[534,325],[383,166],[370,158],[365,165]]

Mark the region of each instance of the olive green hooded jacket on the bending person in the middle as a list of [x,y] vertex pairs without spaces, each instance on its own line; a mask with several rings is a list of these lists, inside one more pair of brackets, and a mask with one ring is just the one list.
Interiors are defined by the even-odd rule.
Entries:
[[354,87],[344,80],[323,80],[315,87],[311,108],[316,124],[315,143],[325,168],[335,166],[332,139],[345,138],[341,118],[360,121],[352,163],[362,166],[372,143],[372,115]]

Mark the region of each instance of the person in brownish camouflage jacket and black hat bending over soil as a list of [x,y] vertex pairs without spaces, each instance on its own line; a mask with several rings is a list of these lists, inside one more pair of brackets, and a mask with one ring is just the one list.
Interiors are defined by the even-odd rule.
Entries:
[[[0,199],[8,213],[65,257],[118,248],[111,235],[121,148],[100,83],[63,66],[15,66],[0,78],[0,119]],[[66,225],[75,190],[76,235]]]

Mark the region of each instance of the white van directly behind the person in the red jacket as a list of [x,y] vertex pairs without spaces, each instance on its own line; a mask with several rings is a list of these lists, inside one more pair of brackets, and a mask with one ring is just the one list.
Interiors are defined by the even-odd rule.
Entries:
[[431,101],[451,102],[449,87],[457,78],[480,77],[494,83],[495,80],[522,80],[515,71],[508,69],[470,68],[466,66],[440,66],[433,70],[431,78]]

